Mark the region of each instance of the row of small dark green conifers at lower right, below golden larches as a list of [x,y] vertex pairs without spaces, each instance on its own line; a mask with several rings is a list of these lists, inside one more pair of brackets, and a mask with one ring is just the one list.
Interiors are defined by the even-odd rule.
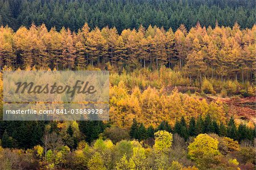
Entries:
[[197,136],[202,133],[217,134],[219,136],[227,136],[228,138],[237,140],[238,142],[253,143],[255,138],[255,128],[249,128],[246,125],[240,124],[238,127],[234,122],[234,118],[230,118],[228,123],[221,122],[218,124],[212,120],[209,115],[204,119],[199,117],[195,119],[192,117],[187,123],[184,117],[180,121],[176,121],[172,128],[167,121],[163,121],[156,128],[149,126],[146,128],[143,123],[138,123],[136,119],[130,128],[131,139],[138,139],[139,141],[154,138],[154,132],[165,130],[174,134],[179,134],[184,140],[188,140],[191,136]]

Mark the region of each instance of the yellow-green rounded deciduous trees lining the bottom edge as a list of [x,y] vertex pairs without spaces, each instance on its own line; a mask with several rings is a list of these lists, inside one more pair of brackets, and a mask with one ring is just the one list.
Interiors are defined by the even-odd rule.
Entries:
[[[69,129],[69,128],[68,128]],[[70,128],[72,129],[72,128]],[[70,130],[67,130],[71,132]],[[152,146],[137,140],[84,140],[72,150],[55,132],[48,142],[28,150],[0,146],[1,169],[254,169],[251,146],[216,134],[199,134],[188,143],[177,134],[156,131]],[[55,140],[53,140],[55,139]],[[44,140],[46,141],[46,140]]]

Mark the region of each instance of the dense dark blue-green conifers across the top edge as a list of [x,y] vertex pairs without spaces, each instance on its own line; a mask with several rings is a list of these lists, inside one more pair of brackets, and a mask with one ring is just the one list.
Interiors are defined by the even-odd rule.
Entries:
[[254,1],[73,1],[73,0],[1,0],[0,25],[14,30],[45,23],[48,28],[69,27],[77,31],[87,22],[90,27],[116,27],[119,32],[126,28],[156,25],[174,28],[185,24],[187,28],[199,21],[203,26],[233,26],[238,22],[243,28],[255,23]]

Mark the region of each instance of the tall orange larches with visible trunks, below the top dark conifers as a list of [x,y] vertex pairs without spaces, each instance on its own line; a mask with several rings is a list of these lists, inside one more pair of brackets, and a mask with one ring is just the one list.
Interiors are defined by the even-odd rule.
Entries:
[[101,69],[162,66],[182,70],[190,81],[203,77],[233,78],[241,82],[255,78],[256,26],[240,30],[236,23],[230,27],[201,27],[197,23],[187,31],[183,24],[173,32],[163,28],[139,27],[90,30],[88,24],[77,32],[55,27],[47,30],[42,24],[14,32],[0,27],[0,67],[84,69],[88,65]]

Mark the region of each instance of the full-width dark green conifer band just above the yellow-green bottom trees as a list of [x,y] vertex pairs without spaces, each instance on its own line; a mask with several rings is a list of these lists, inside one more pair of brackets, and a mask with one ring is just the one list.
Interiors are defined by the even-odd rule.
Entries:
[[100,137],[110,139],[114,143],[135,139],[151,146],[154,143],[154,133],[161,130],[178,134],[185,142],[199,134],[228,137],[246,146],[253,146],[255,139],[255,125],[249,127],[240,123],[237,126],[233,117],[226,122],[218,122],[209,114],[205,118],[192,117],[188,121],[181,117],[174,126],[171,126],[168,121],[163,121],[156,127],[152,125],[145,127],[144,123],[139,123],[136,119],[133,119],[133,124],[128,128],[102,121],[1,121],[0,125],[1,146],[25,150],[38,144],[46,144],[48,142],[45,141],[46,139],[63,143],[71,150],[75,150],[81,140],[90,144]]

